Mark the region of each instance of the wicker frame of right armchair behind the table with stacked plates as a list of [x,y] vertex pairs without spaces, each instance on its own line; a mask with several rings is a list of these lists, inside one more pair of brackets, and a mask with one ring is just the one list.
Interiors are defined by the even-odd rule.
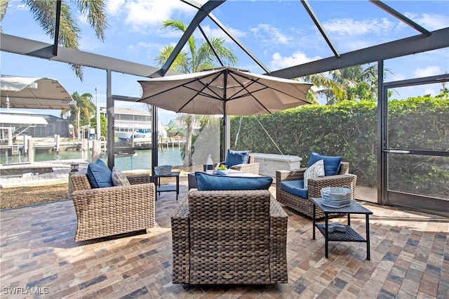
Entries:
[[[281,182],[286,180],[303,180],[304,172],[307,168],[294,169],[290,171],[276,171],[276,199],[281,204],[309,218],[313,217],[314,204],[312,197],[321,197],[321,188],[323,187],[342,187],[347,185],[351,187],[352,199],[354,199],[354,190],[356,188],[357,176],[349,173],[349,163],[341,162],[337,175],[329,175],[323,178],[310,178],[308,187],[308,198],[304,199],[295,194],[281,190]],[[316,218],[324,218],[324,213],[316,209]]]

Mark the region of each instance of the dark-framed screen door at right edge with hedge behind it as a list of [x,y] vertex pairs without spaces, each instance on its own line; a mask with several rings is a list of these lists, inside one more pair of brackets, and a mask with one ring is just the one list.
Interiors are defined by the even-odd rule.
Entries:
[[448,93],[445,84],[411,81],[385,84],[384,203],[449,215]]

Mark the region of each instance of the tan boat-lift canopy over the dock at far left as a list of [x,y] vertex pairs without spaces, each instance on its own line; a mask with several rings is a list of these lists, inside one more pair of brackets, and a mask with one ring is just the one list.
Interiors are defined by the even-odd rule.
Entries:
[[1,75],[1,107],[76,109],[72,95],[56,79]]

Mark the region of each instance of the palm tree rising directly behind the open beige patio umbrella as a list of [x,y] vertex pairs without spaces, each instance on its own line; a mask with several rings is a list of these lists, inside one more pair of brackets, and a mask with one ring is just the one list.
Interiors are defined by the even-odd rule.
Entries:
[[[181,20],[166,20],[163,22],[162,29],[171,28],[173,30],[180,30],[185,32],[187,30],[187,25]],[[231,48],[224,46],[225,39],[220,37],[208,38],[213,50],[220,57],[225,64],[234,66],[237,64],[237,57],[234,55]],[[160,67],[165,64],[173,52],[173,46],[165,46],[160,52],[159,56],[155,59],[156,64]],[[181,51],[170,69],[175,72],[181,73],[191,73],[199,72],[202,69],[211,69],[215,67],[214,62],[217,61],[214,51],[210,48],[209,44],[204,42],[197,46],[194,36],[189,37],[189,53],[186,51]],[[185,145],[185,166],[192,166],[192,136],[193,136],[193,124],[197,117],[191,114],[185,114],[178,117],[187,125],[187,135],[186,135],[186,145]],[[211,124],[215,117],[201,117],[201,123]],[[205,119],[208,119],[207,121]]]

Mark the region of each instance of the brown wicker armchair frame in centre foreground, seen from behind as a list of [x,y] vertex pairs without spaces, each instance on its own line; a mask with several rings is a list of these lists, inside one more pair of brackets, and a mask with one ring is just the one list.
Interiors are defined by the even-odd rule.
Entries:
[[171,216],[173,284],[287,283],[287,214],[268,190],[190,191]]

